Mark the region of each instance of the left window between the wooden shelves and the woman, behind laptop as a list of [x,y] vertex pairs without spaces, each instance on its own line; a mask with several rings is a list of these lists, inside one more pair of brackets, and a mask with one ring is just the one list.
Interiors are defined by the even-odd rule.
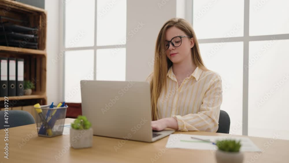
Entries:
[[81,102],[80,80],[125,80],[126,1],[65,1],[63,40],[66,102]]

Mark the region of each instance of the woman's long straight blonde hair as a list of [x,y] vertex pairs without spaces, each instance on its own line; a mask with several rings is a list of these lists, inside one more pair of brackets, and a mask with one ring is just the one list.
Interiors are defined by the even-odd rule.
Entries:
[[192,47],[192,60],[194,65],[198,66],[200,69],[208,70],[201,58],[201,53],[199,50],[199,43],[196,38],[196,34],[188,21],[181,18],[172,18],[168,20],[162,26],[158,38],[155,44],[155,61],[153,67],[153,73],[148,77],[151,78],[150,88],[151,88],[151,116],[152,120],[158,119],[157,113],[157,101],[160,97],[163,86],[166,88],[166,76],[168,69],[173,65],[172,61],[166,56],[165,49],[165,37],[166,30],[171,27],[179,28],[184,31],[187,36],[192,37],[195,41],[194,47]]

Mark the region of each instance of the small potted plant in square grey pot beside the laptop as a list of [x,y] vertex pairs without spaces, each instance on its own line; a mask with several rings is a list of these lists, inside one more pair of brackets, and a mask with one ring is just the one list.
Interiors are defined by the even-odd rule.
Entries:
[[77,116],[77,119],[71,123],[70,143],[73,148],[92,147],[93,131],[91,123],[86,116]]

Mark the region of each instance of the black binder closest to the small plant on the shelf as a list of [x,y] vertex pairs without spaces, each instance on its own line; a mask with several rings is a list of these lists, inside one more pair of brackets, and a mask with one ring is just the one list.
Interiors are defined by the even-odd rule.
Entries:
[[16,96],[23,96],[24,59],[16,59]]

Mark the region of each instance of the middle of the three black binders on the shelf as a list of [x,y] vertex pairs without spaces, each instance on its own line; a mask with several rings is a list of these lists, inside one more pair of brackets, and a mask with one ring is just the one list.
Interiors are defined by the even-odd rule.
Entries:
[[8,58],[8,96],[16,96],[16,58]]

